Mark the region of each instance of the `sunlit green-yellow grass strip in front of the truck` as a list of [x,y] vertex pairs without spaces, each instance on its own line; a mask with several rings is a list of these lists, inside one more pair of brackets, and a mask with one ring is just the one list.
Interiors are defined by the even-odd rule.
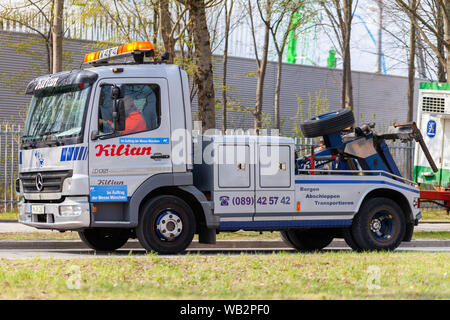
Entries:
[[0,299],[450,299],[446,253],[0,259]]

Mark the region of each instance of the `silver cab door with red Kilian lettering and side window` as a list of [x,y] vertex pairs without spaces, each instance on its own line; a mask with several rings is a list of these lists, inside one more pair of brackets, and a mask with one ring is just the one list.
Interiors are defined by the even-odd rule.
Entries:
[[[125,85],[125,130],[114,130],[111,87]],[[90,199],[126,202],[143,181],[172,172],[166,79],[104,79],[97,85],[89,137]],[[98,137],[93,137],[96,131]],[[95,134],[94,134],[95,135]]]

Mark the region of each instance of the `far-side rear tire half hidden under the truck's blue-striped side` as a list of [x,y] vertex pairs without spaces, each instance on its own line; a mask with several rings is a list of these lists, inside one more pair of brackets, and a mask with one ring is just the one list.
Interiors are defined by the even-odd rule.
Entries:
[[285,236],[295,249],[306,252],[322,250],[334,238],[328,230],[322,229],[289,230]]

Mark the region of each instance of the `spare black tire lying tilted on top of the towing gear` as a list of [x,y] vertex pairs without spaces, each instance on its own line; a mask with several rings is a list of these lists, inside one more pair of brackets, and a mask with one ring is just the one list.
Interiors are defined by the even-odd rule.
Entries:
[[300,124],[300,128],[306,138],[315,138],[341,132],[354,124],[355,117],[352,110],[341,109],[306,120]]

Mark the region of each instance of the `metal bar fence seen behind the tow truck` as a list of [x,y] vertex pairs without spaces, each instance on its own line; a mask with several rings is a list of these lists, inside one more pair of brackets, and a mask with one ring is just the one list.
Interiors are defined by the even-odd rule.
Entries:
[[[19,124],[0,124],[0,213],[17,211],[19,197],[15,191],[18,176],[19,144],[23,127]],[[311,147],[318,144],[317,139],[296,138],[296,150],[299,156],[310,154]],[[403,177],[412,180],[414,144],[391,143],[392,156]],[[426,209],[438,209],[429,204]]]

